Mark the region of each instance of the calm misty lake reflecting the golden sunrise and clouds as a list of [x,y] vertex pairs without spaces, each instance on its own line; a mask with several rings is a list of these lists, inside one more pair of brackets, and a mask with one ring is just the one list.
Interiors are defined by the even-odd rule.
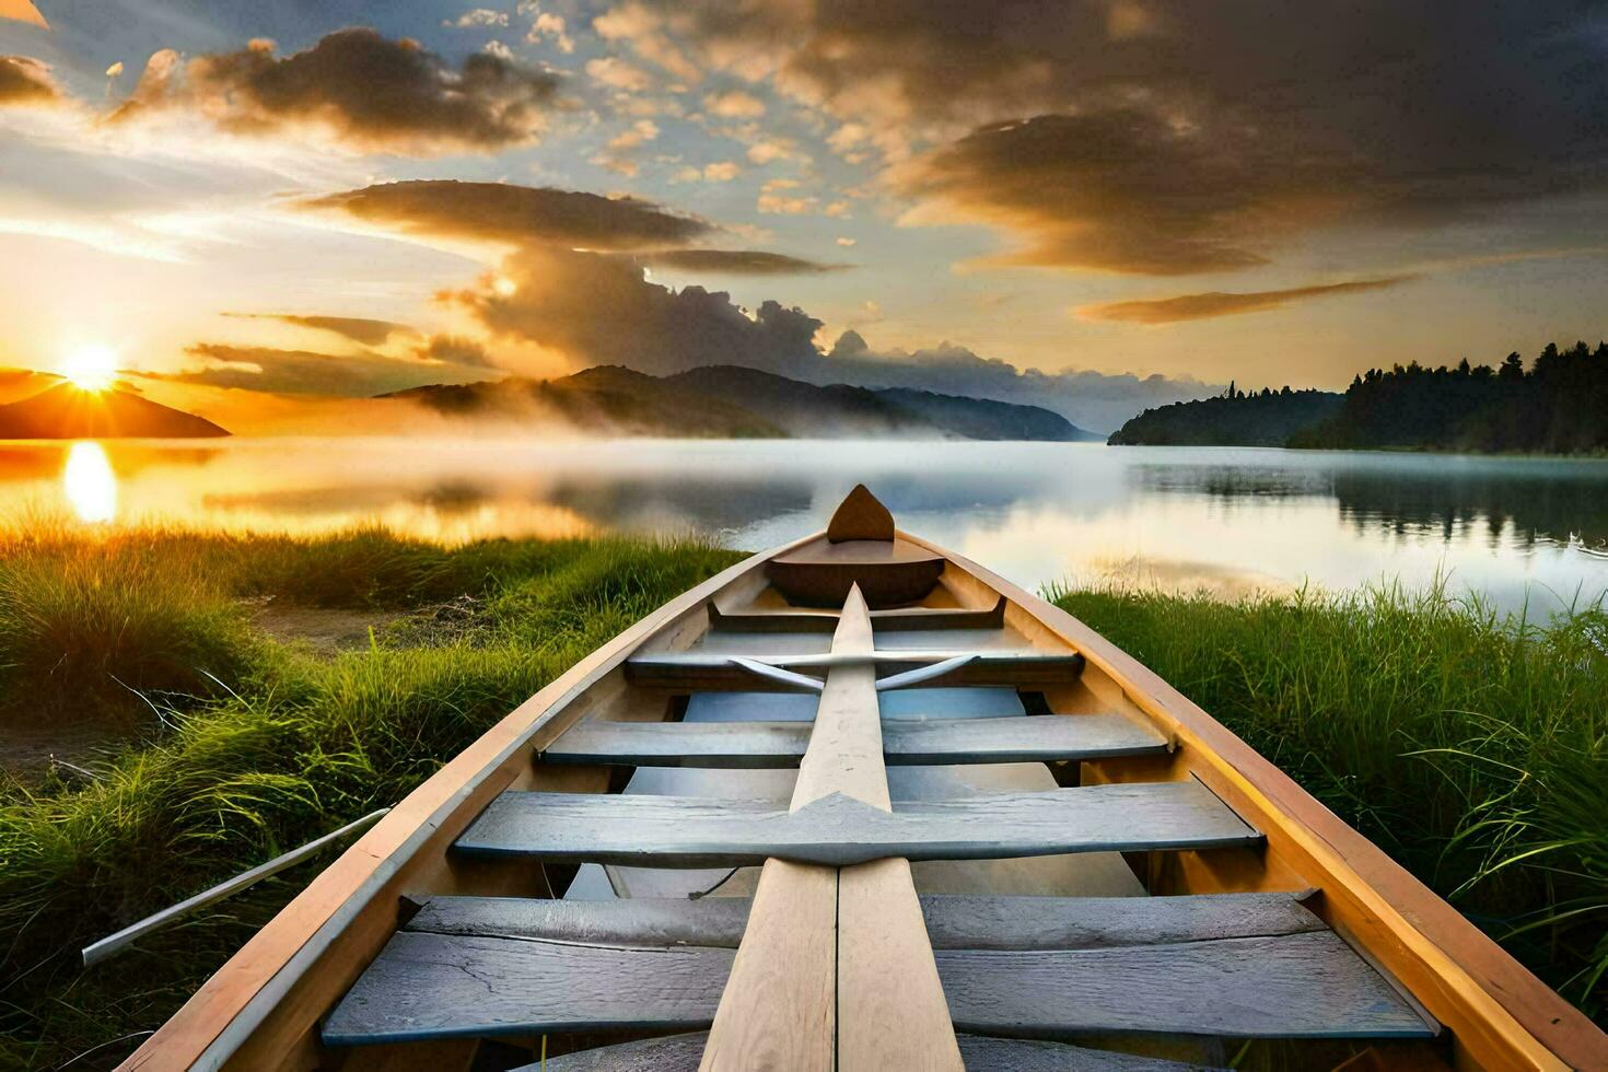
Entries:
[[0,511],[458,542],[626,529],[757,550],[855,482],[1019,583],[1238,593],[1447,580],[1503,609],[1608,591],[1608,461],[799,440],[0,444]]

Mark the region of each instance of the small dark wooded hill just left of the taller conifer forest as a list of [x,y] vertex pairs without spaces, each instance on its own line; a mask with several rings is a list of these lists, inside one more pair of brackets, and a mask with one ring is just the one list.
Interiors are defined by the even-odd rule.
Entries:
[[1145,410],[1106,442],[1116,447],[1283,447],[1296,432],[1339,411],[1333,391],[1261,391]]

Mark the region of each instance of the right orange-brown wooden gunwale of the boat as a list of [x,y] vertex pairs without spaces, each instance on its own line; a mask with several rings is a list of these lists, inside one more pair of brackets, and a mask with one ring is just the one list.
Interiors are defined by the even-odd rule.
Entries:
[[[1450,1029],[1458,1064],[1608,1067],[1603,1035],[1579,1009],[1153,670],[987,567],[907,532],[899,535],[944,553],[979,587],[1005,595],[1082,653],[1089,669],[1118,685],[1158,730],[1174,736],[1180,747],[1171,760],[1267,834],[1267,857],[1282,857],[1285,866],[1322,892],[1314,910],[1336,931],[1352,935]],[[1124,768],[1106,771],[1119,775]],[[1135,765],[1134,773],[1147,771]],[[1208,890],[1192,886],[1190,892]]]

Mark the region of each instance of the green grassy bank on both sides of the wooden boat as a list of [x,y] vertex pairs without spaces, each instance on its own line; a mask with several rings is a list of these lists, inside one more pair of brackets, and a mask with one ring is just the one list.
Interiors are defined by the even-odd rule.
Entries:
[[[0,1067],[95,1046],[72,1067],[114,1064],[328,857],[96,969],[82,945],[397,800],[735,558],[624,538],[0,537],[0,734],[71,715],[119,743],[0,783]],[[1603,1017],[1602,614],[1515,633],[1399,595],[1058,599]],[[265,635],[264,601],[379,625],[320,654]]]

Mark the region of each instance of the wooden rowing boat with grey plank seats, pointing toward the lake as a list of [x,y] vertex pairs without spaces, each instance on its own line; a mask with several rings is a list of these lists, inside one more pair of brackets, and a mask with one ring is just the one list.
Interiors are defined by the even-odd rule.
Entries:
[[532,696],[129,1069],[1608,1067],[1166,681],[857,489]]

